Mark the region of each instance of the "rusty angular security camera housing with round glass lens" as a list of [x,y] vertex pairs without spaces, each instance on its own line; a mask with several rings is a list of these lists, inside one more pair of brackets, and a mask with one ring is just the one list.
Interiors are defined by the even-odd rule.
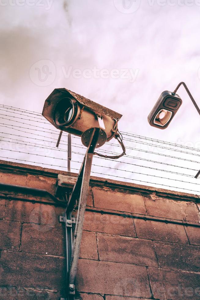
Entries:
[[102,129],[96,148],[116,135],[117,122],[122,117],[121,114],[66,88],[54,89],[44,103],[42,115],[57,129],[82,137],[82,143],[86,147],[87,133],[90,135],[88,131],[91,128]]

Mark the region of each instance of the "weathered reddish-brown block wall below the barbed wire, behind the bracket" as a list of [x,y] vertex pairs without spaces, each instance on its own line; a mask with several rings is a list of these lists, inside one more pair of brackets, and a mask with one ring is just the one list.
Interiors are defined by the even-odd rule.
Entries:
[[[72,187],[75,175],[59,173],[70,176]],[[54,194],[57,174],[0,161],[0,182],[4,183]],[[200,228],[169,223],[198,225],[198,206],[196,195],[93,177],[76,298],[200,299]],[[59,223],[63,213],[64,208],[48,197],[0,191],[1,300],[66,296],[65,234],[64,224]]]

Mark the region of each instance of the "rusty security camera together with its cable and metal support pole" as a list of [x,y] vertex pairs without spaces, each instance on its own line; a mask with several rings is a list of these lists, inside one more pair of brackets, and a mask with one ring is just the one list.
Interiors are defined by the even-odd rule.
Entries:
[[[44,103],[42,114],[52,125],[61,130],[57,141],[57,147],[61,139],[62,131],[81,137],[83,145],[87,147],[72,193],[70,194],[70,197],[66,199],[67,208],[65,210],[64,218],[66,225],[67,299],[74,300],[76,271],[93,155],[117,159],[125,154],[122,136],[117,129],[117,123],[122,115],[71,92],[66,88],[57,88],[50,94]],[[113,137],[120,143],[123,149],[122,154],[117,156],[106,156],[94,152],[95,148],[101,147],[106,141],[110,141]],[[68,159],[71,159],[69,153]],[[64,198],[66,197],[66,194],[67,193],[63,194]],[[79,208],[75,229],[76,234],[72,241],[72,219],[74,219],[72,218],[72,210],[76,207],[77,199],[79,199]],[[61,219],[63,219],[63,217]]]

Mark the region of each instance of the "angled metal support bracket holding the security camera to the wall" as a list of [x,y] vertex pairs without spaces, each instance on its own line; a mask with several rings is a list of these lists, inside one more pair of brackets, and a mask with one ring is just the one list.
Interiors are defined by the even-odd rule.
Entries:
[[[70,193],[69,200],[67,201],[67,208],[65,210],[65,216],[60,216],[60,222],[65,222],[65,241],[66,241],[66,286],[68,291],[68,296],[66,300],[76,300],[75,299],[75,279],[76,271],[78,266],[80,244],[83,232],[83,221],[85,216],[87,195],[90,182],[90,173],[92,166],[93,153],[97,147],[99,137],[102,133],[102,129],[93,128],[91,129],[91,136],[88,141],[87,152],[84,156],[83,163],[81,165],[78,177],[74,184],[73,190]],[[62,183],[62,186],[64,184]],[[57,183],[57,193],[63,194],[65,198],[67,197],[66,190],[61,190],[61,184]],[[72,218],[72,211],[76,206],[76,201],[79,199],[79,206],[77,212],[77,218]],[[72,237],[72,223],[76,223],[74,239]],[[63,300],[63,298],[61,298]]]

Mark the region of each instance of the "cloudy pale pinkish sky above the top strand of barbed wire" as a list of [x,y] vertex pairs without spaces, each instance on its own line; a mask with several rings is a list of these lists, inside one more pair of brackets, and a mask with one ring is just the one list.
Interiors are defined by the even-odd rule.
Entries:
[[161,92],[180,81],[200,106],[200,1],[0,0],[0,6],[1,104],[42,112],[53,89],[65,87],[123,114],[121,131],[200,148],[200,117],[183,87],[183,105],[168,129],[147,122]]

